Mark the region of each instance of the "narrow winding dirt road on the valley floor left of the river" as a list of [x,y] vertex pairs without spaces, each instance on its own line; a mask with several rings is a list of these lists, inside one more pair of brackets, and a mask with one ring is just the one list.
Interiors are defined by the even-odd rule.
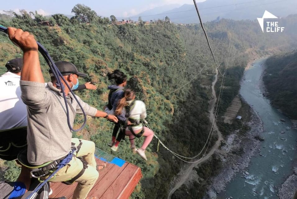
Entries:
[[[217,95],[216,95],[216,91],[214,89],[214,85],[217,83],[217,75],[218,75],[218,71],[216,70],[216,76],[215,76],[215,80],[212,82],[212,105],[211,105],[211,109],[210,109],[210,115],[209,115],[209,119],[211,122],[214,122],[213,124],[213,130],[217,132],[218,134],[218,140],[216,141],[215,145],[212,147],[212,149],[208,152],[208,154],[206,154],[203,158],[198,157],[195,160],[192,160],[195,163],[188,163],[186,165],[185,169],[182,169],[180,171],[180,173],[177,175],[179,176],[176,179],[175,185],[171,188],[171,190],[168,193],[168,199],[171,198],[171,195],[178,189],[181,187],[181,185],[183,185],[185,183],[185,181],[190,177],[190,173],[192,172],[193,168],[196,167],[198,164],[204,162],[205,160],[208,160],[208,158],[210,158],[212,156],[212,154],[215,152],[215,150],[218,149],[218,147],[221,144],[222,141],[222,134],[221,132],[218,130],[217,128],[217,123],[214,121],[214,117],[215,117],[215,113],[214,110],[216,108],[216,102],[217,102]],[[199,160],[200,159],[200,160]]]

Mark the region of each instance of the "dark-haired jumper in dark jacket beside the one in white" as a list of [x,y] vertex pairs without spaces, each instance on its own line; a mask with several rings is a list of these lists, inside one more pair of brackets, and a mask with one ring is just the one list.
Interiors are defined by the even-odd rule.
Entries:
[[[117,109],[118,101],[123,97],[124,94],[124,87],[127,85],[127,76],[121,72],[120,70],[115,70],[112,73],[107,74],[108,80],[114,79],[116,82],[116,85],[110,85],[107,87],[109,91],[108,94],[108,104],[104,108],[104,111],[108,114],[114,114],[114,110]],[[118,114],[116,115],[119,122],[115,124],[113,131],[112,131],[112,140],[110,143],[108,143],[108,146],[111,147],[111,150],[117,151],[118,145],[123,138],[122,131],[120,130],[120,133],[117,137],[117,132],[120,129],[120,123],[121,121],[125,121],[125,115]]]

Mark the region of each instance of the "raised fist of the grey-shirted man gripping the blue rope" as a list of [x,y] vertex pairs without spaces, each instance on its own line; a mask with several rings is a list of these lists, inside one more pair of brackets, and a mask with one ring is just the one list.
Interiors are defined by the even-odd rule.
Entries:
[[38,51],[38,45],[33,35],[29,32],[24,32],[22,29],[13,27],[7,28],[9,39],[20,47],[23,52]]

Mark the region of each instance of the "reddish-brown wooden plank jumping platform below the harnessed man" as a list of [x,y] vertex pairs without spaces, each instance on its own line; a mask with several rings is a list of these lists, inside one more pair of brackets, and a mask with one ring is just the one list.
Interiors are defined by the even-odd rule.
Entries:
[[[96,159],[97,164],[102,160]],[[87,199],[97,197],[98,199],[128,199],[142,178],[139,167],[125,163],[119,167],[115,164],[106,162],[106,167],[99,171],[99,178],[89,192]],[[66,185],[63,183],[51,183],[53,194],[50,198],[59,198],[65,196],[72,198],[77,183]]]

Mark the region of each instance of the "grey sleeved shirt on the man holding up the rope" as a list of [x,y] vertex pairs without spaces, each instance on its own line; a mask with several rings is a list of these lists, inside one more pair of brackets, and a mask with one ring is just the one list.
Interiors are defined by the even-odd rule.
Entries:
[[[66,106],[59,89],[48,82],[20,81],[23,102],[28,111],[28,161],[41,165],[67,155],[71,148],[72,132],[67,124]],[[95,116],[97,109],[83,102],[75,95],[85,113]],[[78,103],[71,93],[66,96],[70,124],[73,126],[76,113],[82,114]]]

